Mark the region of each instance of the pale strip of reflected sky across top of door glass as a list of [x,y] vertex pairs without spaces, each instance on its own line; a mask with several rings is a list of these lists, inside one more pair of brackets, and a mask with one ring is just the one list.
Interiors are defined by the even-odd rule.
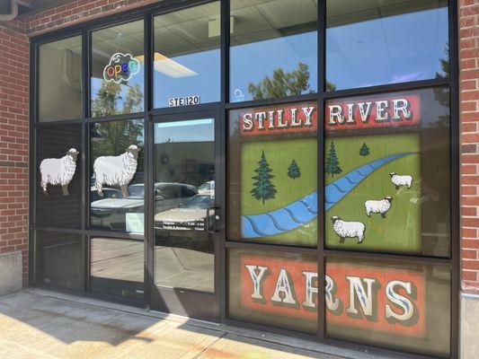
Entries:
[[211,142],[214,140],[215,125],[213,118],[155,124],[155,144],[163,144],[167,141],[178,143]]

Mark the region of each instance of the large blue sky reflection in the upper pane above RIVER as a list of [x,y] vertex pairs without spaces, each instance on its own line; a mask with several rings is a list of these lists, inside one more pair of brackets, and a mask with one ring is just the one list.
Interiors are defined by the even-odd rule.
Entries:
[[447,43],[446,7],[333,27],[327,79],[339,90],[434,78]]

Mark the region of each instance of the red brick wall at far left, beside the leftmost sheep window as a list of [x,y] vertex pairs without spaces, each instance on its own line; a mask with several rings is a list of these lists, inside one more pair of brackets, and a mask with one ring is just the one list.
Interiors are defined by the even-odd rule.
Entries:
[[20,22],[0,24],[0,253],[28,266],[29,41]]

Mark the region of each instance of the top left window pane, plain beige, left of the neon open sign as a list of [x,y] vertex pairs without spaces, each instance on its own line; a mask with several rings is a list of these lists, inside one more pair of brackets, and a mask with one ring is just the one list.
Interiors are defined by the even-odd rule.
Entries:
[[82,37],[40,45],[39,120],[82,117]]

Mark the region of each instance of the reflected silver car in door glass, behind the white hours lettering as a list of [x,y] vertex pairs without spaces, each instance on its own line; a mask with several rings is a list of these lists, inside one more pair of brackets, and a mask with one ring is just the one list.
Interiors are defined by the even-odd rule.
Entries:
[[[166,210],[155,215],[156,229],[204,231],[207,210],[215,206],[215,197],[211,191],[191,197],[178,208]],[[214,216],[214,211],[209,212]],[[212,218],[209,218],[212,220]]]

